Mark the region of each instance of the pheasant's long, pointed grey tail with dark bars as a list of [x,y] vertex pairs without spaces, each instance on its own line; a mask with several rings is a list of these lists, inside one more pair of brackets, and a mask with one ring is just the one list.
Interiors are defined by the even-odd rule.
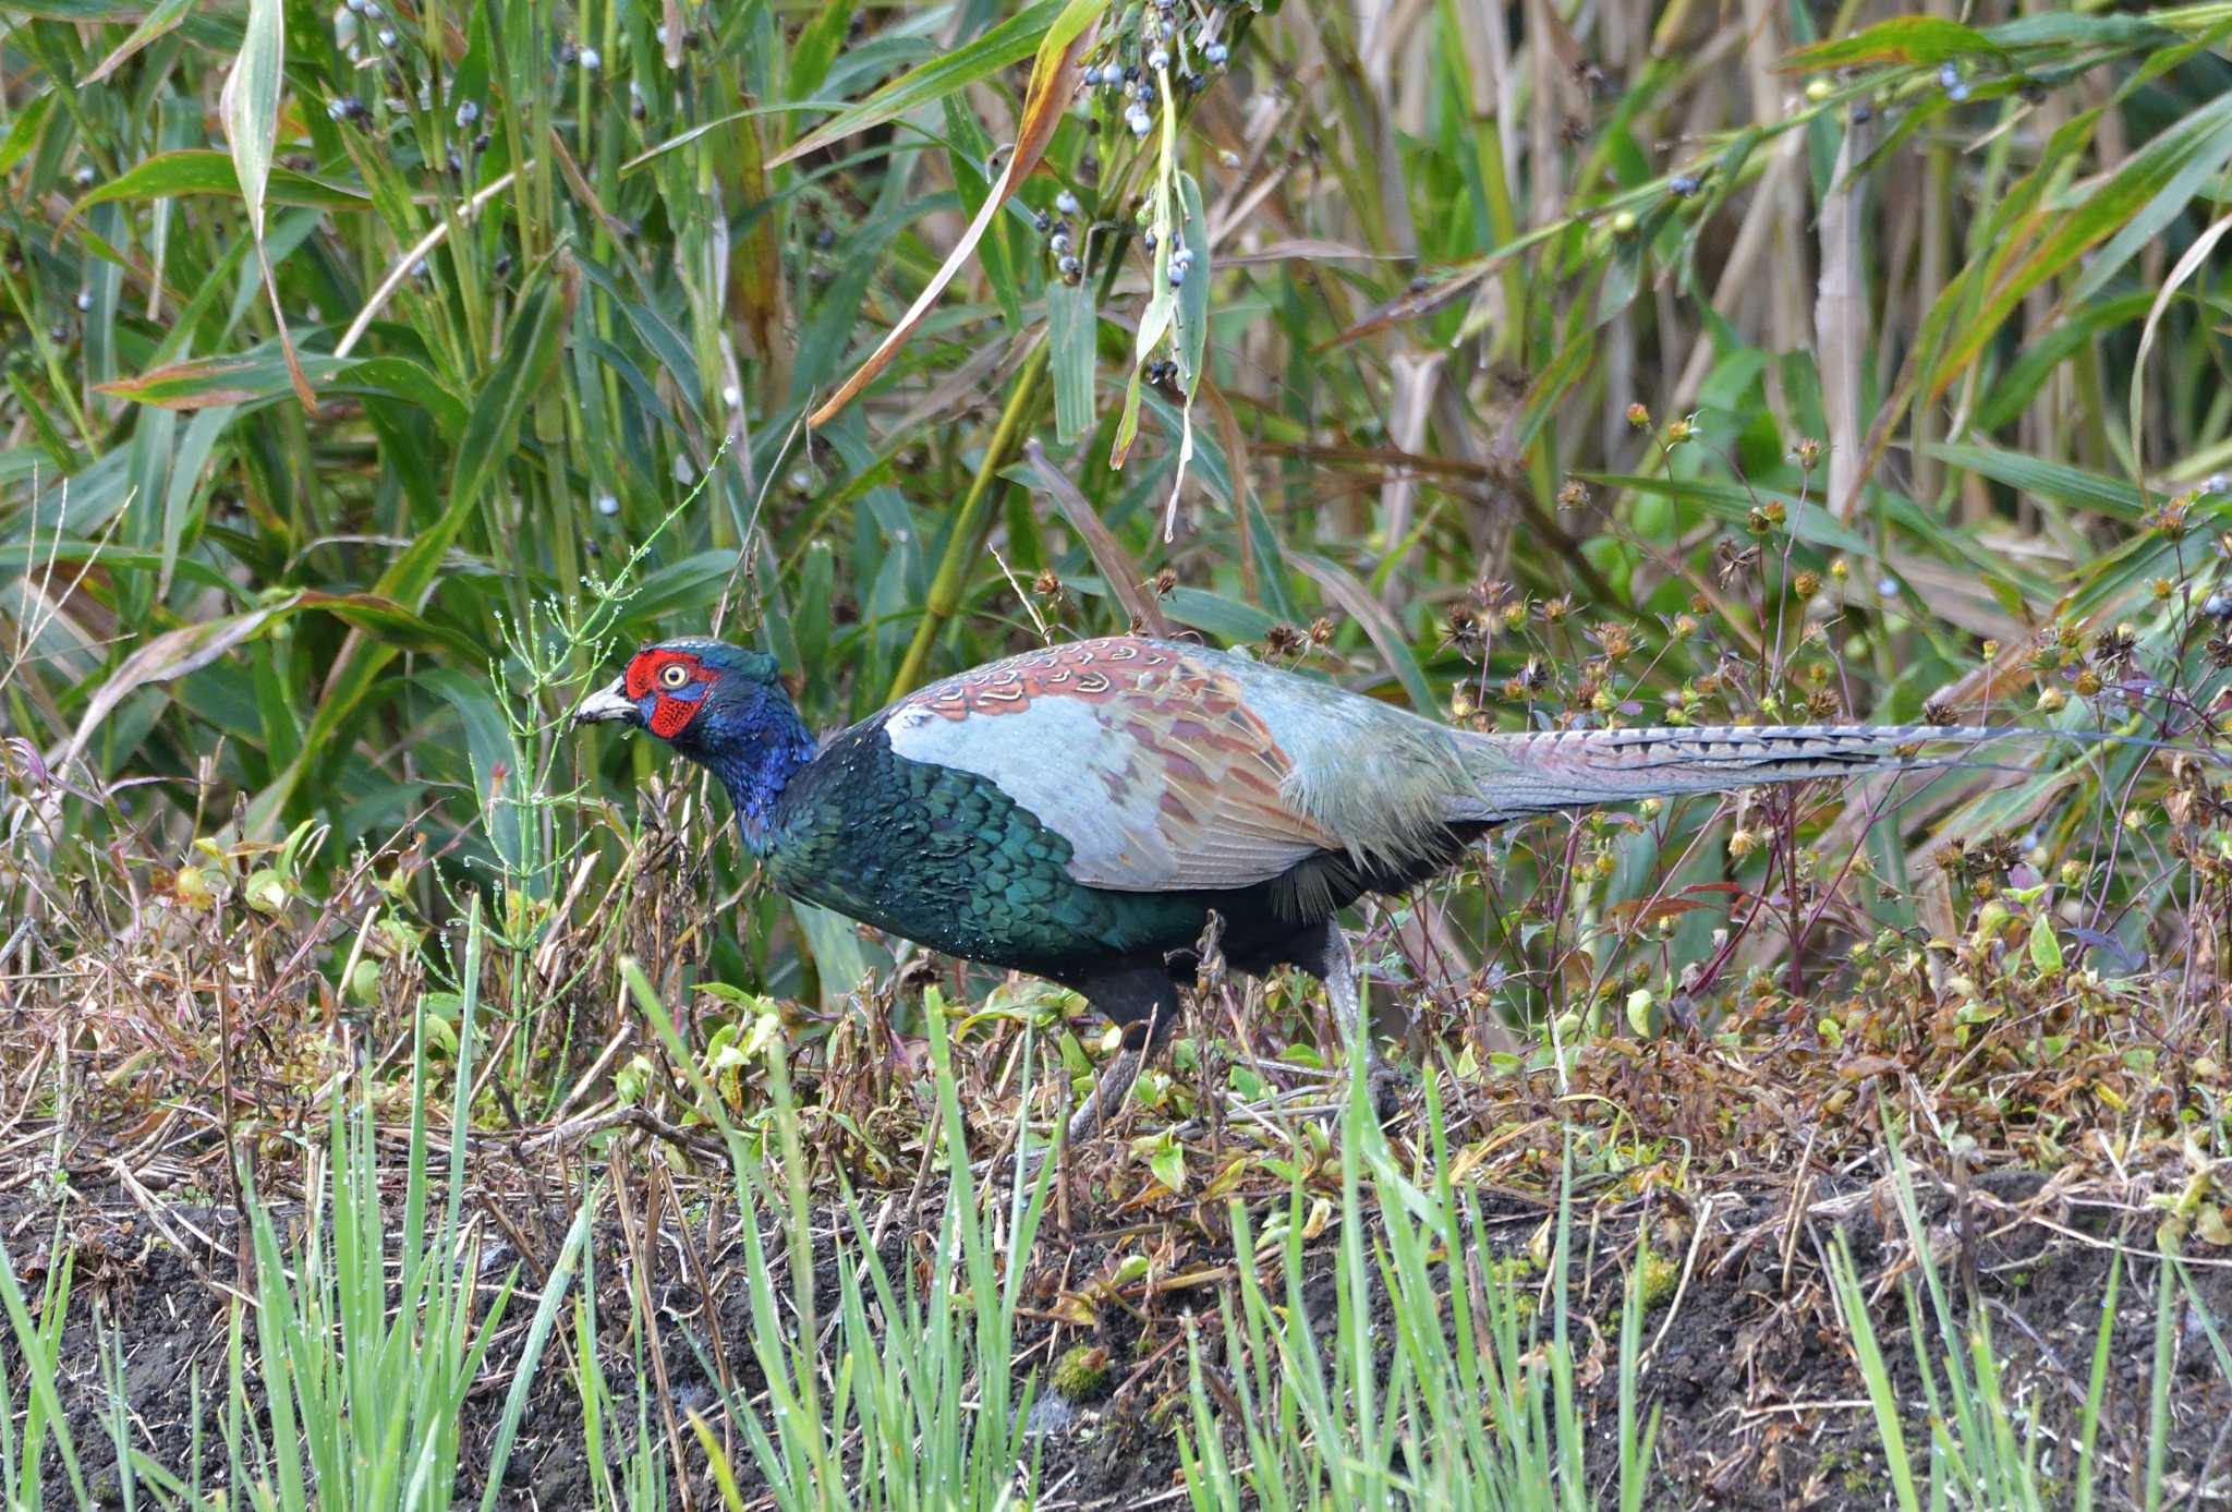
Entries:
[[1986,741],[2060,735],[1917,724],[1556,730],[1471,735],[1462,741],[1462,759],[1480,793],[1478,817],[1511,820],[1641,797],[1732,793],[1770,782],[1969,766],[1969,753]]

